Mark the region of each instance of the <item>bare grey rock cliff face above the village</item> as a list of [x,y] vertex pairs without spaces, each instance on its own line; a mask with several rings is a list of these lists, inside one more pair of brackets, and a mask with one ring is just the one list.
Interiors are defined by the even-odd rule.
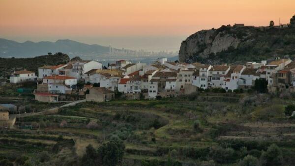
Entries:
[[228,50],[233,46],[237,48],[240,40],[233,34],[218,31],[217,29],[201,30],[182,41],[179,50],[180,62],[192,62],[194,56],[208,58],[211,53],[216,54]]

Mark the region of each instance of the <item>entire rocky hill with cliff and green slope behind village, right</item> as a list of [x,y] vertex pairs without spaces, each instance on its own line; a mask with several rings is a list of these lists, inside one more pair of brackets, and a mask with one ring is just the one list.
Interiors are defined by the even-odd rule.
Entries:
[[182,41],[181,62],[243,63],[295,57],[295,28],[231,27],[201,30]]

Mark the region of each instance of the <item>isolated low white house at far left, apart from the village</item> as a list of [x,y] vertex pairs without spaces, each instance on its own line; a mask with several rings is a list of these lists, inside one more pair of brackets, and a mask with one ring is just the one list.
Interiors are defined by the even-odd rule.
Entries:
[[28,81],[34,81],[37,78],[35,72],[28,70],[20,70],[11,74],[9,81],[10,83],[23,83]]

